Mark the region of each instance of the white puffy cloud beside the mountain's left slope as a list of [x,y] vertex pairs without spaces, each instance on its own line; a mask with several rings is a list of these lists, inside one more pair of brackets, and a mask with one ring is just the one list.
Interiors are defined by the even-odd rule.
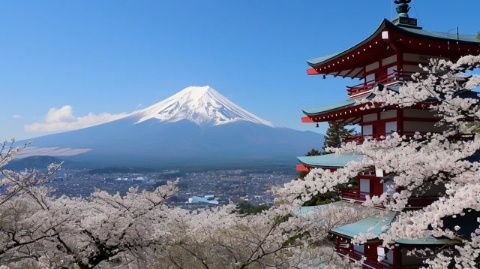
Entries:
[[28,124],[25,125],[24,128],[27,132],[64,132],[114,121],[127,115],[127,113],[88,113],[85,116],[77,117],[73,113],[72,106],[65,105],[61,108],[50,108],[43,122]]

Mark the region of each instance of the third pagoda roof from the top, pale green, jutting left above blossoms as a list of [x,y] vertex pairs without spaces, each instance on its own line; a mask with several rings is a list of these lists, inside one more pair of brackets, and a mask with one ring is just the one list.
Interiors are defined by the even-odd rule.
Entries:
[[318,156],[301,156],[297,159],[302,163],[310,167],[322,167],[322,168],[340,168],[347,165],[352,161],[358,161],[361,159],[360,155],[352,153],[336,154],[330,153]]

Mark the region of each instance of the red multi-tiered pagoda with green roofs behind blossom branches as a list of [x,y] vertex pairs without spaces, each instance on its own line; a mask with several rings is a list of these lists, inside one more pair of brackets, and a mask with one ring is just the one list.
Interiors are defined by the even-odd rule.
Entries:
[[[480,54],[480,41],[475,36],[437,33],[422,29],[417,19],[408,16],[411,0],[396,0],[397,18],[384,19],[372,35],[353,47],[333,55],[308,60],[308,75],[328,75],[359,79],[358,85],[347,87],[348,99],[342,103],[304,110],[304,123],[342,122],[359,125],[361,135],[353,139],[361,143],[365,138],[381,138],[389,133],[411,135],[415,132],[439,132],[437,118],[426,107],[416,105],[409,108],[364,107],[356,102],[369,98],[377,87],[398,90],[400,85],[411,79],[413,73],[421,72],[419,65],[427,64],[432,58],[455,61],[458,58]],[[298,157],[297,170],[308,172],[312,168],[337,169],[361,156],[352,154],[326,154]],[[359,174],[353,184],[345,189],[341,198],[361,203],[367,196],[395,191],[393,181],[382,171],[372,168]],[[422,208],[438,199],[438,190],[412,198],[406,210]],[[391,250],[381,247],[379,239],[369,240],[362,245],[351,244],[352,238],[367,231],[380,235],[383,228],[395,219],[396,212],[384,212],[379,217],[360,220],[356,223],[331,230],[336,250],[352,260],[364,259],[364,268],[418,268],[422,259],[407,255],[411,249],[422,247],[439,248],[455,244],[455,240],[424,238],[399,240]]]

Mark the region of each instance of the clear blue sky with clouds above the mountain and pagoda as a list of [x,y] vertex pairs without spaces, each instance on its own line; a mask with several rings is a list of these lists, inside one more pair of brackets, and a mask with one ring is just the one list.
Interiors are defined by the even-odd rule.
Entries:
[[[357,81],[307,76],[395,17],[393,0],[0,2],[0,139],[81,128],[210,85],[277,126]],[[478,0],[413,0],[424,29],[476,34]]]

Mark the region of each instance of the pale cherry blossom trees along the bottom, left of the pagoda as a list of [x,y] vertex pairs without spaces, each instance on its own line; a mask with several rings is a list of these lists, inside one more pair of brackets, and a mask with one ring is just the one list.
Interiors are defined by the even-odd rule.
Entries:
[[[2,166],[18,151],[4,144]],[[2,170],[0,265],[311,268],[323,262],[344,267],[347,261],[326,240],[328,231],[365,215],[329,206],[300,216],[298,206],[281,202],[250,215],[233,204],[187,211],[165,203],[176,182],[151,192],[132,188],[125,195],[96,190],[85,198],[56,197],[45,183],[58,169],[60,164],[44,172]]]

